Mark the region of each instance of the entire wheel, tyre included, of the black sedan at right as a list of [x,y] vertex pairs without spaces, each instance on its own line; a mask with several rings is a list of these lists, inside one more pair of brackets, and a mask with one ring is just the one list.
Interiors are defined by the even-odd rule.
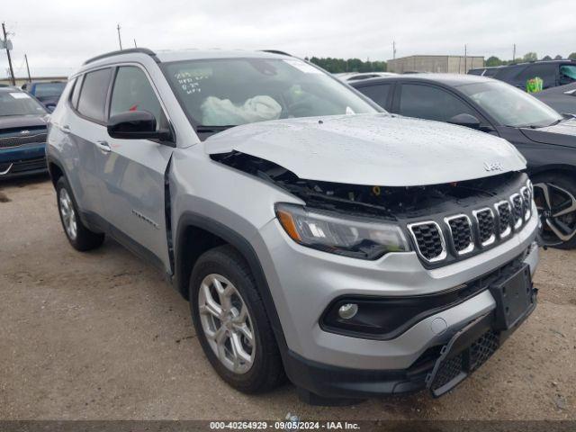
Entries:
[[[535,175],[532,184],[535,186],[535,201],[542,221],[541,236],[545,244],[559,249],[573,249],[576,247],[576,234],[570,237],[570,233],[576,232],[576,182],[567,175],[543,174]],[[546,193],[549,200],[545,199]],[[562,209],[570,210],[571,208],[572,211],[554,217],[554,214],[558,214]],[[558,237],[550,224],[558,232],[570,238],[564,240]]]

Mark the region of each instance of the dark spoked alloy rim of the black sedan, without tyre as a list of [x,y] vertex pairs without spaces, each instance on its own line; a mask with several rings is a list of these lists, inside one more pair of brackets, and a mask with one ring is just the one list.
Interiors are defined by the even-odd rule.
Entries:
[[576,198],[556,184],[534,184],[534,199],[547,246],[558,246],[576,235]]

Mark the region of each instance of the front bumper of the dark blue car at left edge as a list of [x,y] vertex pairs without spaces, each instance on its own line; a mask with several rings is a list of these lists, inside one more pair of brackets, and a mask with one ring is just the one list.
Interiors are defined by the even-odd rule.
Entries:
[[46,145],[24,144],[0,149],[0,179],[45,173]]

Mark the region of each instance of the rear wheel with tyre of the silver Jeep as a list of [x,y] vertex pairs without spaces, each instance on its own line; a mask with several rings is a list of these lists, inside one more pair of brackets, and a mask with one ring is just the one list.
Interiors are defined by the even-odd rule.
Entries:
[[80,220],[72,189],[63,175],[56,182],[56,201],[62,228],[72,247],[84,252],[102,245],[104,235],[86,228]]

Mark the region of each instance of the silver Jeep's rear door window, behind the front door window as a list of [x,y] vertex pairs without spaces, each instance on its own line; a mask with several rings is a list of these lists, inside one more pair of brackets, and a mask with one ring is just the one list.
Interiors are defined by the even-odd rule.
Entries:
[[104,106],[111,76],[110,67],[85,74],[76,109],[87,119],[101,123],[104,121]]

